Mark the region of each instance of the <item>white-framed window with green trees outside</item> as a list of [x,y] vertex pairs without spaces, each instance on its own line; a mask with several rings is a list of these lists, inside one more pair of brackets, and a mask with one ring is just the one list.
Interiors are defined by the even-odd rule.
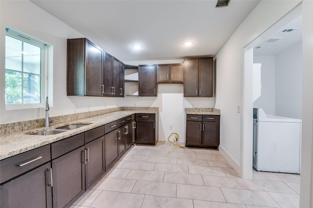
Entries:
[[43,107],[46,95],[46,44],[6,28],[5,106],[6,109]]

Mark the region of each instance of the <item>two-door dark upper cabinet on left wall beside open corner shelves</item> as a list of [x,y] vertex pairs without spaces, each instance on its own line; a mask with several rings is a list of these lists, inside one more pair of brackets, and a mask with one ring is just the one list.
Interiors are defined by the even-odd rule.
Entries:
[[103,57],[104,96],[124,97],[124,63],[108,53]]

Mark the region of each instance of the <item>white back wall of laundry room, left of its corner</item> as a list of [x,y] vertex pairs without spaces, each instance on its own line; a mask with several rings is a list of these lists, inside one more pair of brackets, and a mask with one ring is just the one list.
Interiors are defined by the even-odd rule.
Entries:
[[253,63],[261,63],[261,96],[253,103],[254,108],[262,108],[266,114],[275,115],[275,57],[254,56]]

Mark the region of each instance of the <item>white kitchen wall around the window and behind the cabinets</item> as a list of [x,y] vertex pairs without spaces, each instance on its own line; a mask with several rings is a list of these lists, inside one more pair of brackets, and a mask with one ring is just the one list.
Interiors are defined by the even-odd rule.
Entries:
[[[5,110],[4,43],[6,26],[20,30],[53,45],[53,104],[50,103],[53,106],[50,107],[49,116],[86,112],[115,106],[159,107],[159,140],[166,140],[171,132],[177,132],[179,133],[179,141],[184,142],[184,108],[192,106],[214,107],[214,98],[183,98],[182,84],[158,85],[157,97],[101,98],[67,96],[67,38],[81,38],[83,35],[30,1],[0,1],[0,124],[44,118],[44,108]],[[148,61],[137,62],[137,64],[176,62],[183,62],[183,60]],[[134,64],[134,62],[129,64]],[[173,126],[173,130],[169,130],[169,125]]]

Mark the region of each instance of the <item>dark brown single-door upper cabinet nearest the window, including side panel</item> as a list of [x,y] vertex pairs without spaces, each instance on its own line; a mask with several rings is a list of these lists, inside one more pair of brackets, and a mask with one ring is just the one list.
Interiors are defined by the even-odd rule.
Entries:
[[103,95],[102,53],[86,38],[67,39],[67,95]]

